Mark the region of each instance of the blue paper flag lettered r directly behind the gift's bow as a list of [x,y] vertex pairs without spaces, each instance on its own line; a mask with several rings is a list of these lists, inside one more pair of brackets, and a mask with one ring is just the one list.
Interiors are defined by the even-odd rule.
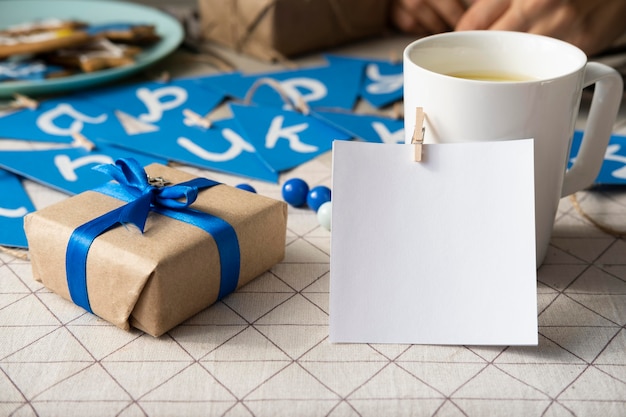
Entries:
[[61,149],[0,151],[0,166],[35,182],[67,194],[91,190],[108,181],[92,168],[120,158],[134,158],[143,165],[167,161],[124,149],[99,146],[94,151],[71,147]]

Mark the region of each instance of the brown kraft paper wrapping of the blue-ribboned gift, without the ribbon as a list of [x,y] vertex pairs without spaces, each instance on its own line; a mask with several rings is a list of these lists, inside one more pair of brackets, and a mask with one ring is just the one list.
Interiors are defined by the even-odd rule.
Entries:
[[[177,184],[194,176],[159,164],[151,177]],[[69,238],[78,226],[125,204],[88,191],[38,210],[24,227],[33,277],[71,300],[65,273]],[[200,191],[191,206],[234,227],[240,246],[237,288],[280,262],[285,253],[287,205],[224,184]],[[93,312],[129,330],[160,336],[213,304],[218,297],[217,245],[207,232],[150,213],[142,234],[118,226],[93,242],[87,257],[87,289]]]

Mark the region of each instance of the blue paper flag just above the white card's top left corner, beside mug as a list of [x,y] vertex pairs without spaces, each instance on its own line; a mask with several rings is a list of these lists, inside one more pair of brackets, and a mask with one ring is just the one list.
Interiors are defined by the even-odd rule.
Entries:
[[313,116],[347,134],[375,143],[404,143],[404,120],[346,112],[316,111]]

